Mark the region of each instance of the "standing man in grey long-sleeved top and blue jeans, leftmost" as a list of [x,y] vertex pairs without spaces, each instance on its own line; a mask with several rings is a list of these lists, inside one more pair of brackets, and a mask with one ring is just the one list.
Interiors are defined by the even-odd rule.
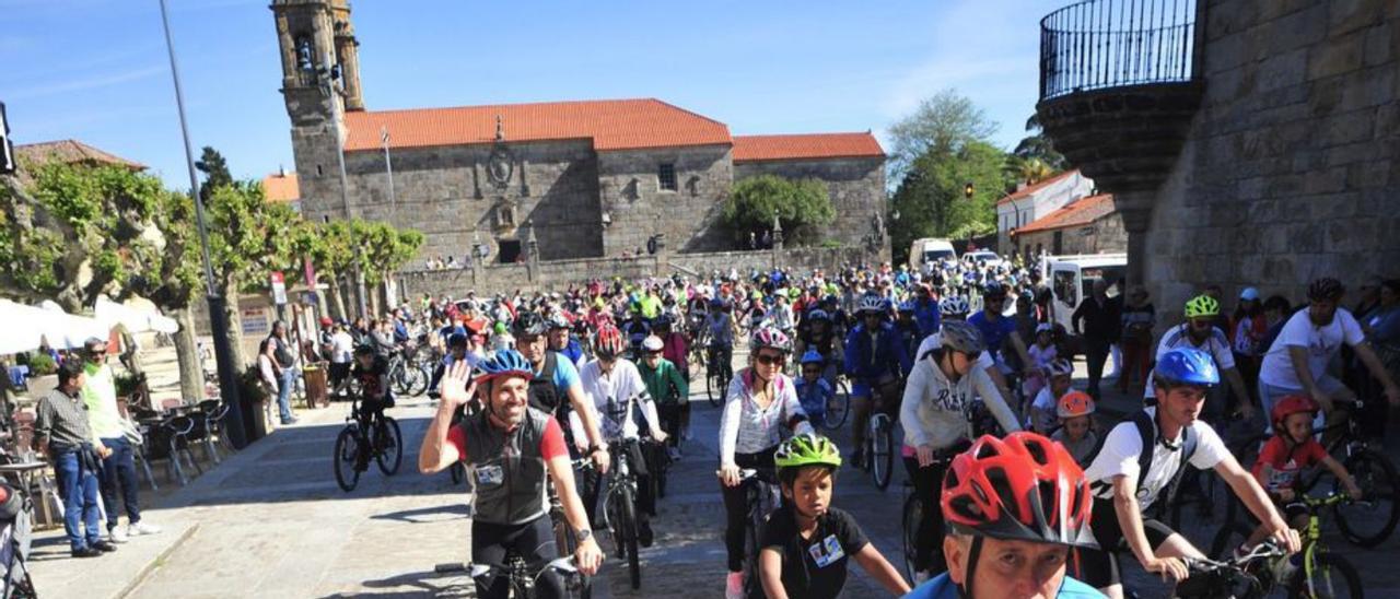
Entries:
[[83,365],[59,367],[59,388],[39,399],[34,421],[35,446],[48,448],[63,497],[63,529],[69,533],[73,557],[97,557],[116,551],[102,540],[98,528],[97,472],[99,460],[112,455],[101,441],[94,444],[83,390]]

